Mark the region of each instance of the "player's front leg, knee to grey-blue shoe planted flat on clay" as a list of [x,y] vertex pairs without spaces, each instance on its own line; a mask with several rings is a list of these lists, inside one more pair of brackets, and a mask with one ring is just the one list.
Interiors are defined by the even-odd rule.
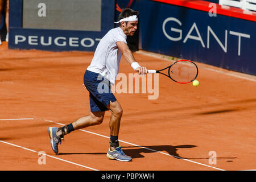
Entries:
[[110,102],[110,105],[108,106],[108,108],[111,111],[111,117],[109,121],[110,147],[107,153],[107,157],[109,159],[116,159],[119,161],[125,161],[125,162],[131,161],[132,159],[129,156],[125,155],[125,153],[122,151],[122,148],[119,146],[119,142],[118,142],[121,117],[123,114],[122,107],[118,101],[114,101],[114,102]]

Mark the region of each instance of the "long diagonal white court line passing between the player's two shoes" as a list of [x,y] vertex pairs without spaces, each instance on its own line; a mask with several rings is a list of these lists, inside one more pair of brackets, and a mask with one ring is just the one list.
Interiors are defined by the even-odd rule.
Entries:
[[[48,119],[43,119],[43,120],[64,126],[64,124],[62,124],[62,123],[57,123],[57,122],[54,122],[54,121],[51,121],[51,120],[48,120]],[[93,134],[93,135],[98,135],[98,136],[100,136],[100,137],[104,137],[104,138],[108,138],[108,139],[109,139],[109,137],[106,137],[105,135],[97,134],[97,133],[94,133],[94,132],[92,132],[92,131],[86,131],[86,130],[81,130],[81,129],[80,129],[80,131],[84,131],[84,132],[86,132],[86,133],[90,133],[90,134]],[[206,166],[206,167],[214,168],[214,169],[217,169],[217,170],[220,170],[220,171],[225,171],[224,169],[220,169],[220,168],[213,167],[213,166],[208,166],[208,165],[206,165],[206,164],[198,163],[198,162],[195,162],[195,161],[193,161],[193,160],[188,160],[188,159],[180,158],[180,157],[178,157],[178,156],[170,155],[170,154],[167,154],[167,153],[164,153],[164,152],[160,152],[160,151],[156,151],[156,150],[153,150],[153,149],[151,149],[151,148],[142,147],[142,146],[139,146],[138,144],[134,144],[134,143],[130,143],[130,142],[125,142],[125,141],[119,140],[119,139],[118,139],[118,141],[119,141],[119,142],[126,143],[126,144],[130,144],[130,145],[132,145],[132,146],[136,146],[136,147],[139,147],[139,148],[144,148],[144,149],[146,149],[146,150],[150,150],[150,151],[153,151],[153,152],[158,152],[158,153],[160,153],[160,154],[172,156],[172,157],[174,157],[174,158],[182,159],[182,160],[185,160],[185,161],[187,161],[187,162],[199,164],[199,165],[201,165],[201,166]]]

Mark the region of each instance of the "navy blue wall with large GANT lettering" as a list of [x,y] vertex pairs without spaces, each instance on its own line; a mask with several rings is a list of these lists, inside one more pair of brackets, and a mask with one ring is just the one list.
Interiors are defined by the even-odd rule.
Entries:
[[256,22],[150,0],[131,9],[139,10],[143,50],[256,75]]

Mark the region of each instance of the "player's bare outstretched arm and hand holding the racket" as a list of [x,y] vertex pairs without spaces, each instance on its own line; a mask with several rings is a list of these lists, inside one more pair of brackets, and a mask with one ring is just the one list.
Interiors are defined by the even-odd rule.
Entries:
[[[117,43],[117,47],[122,51],[123,56],[125,57],[125,60],[131,65],[133,63],[136,63],[133,53],[131,52],[131,50],[129,49],[129,47],[127,46],[126,43],[122,42],[122,41],[118,41]],[[135,69],[135,71],[139,72],[139,75],[143,75],[147,73],[147,68],[146,67],[138,67]]]

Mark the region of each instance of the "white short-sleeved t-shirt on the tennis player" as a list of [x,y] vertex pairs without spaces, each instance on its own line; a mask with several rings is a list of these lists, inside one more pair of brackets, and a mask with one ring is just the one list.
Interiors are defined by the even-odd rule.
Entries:
[[126,35],[117,27],[110,30],[98,43],[92,63],[87,68],[91,72],[99,73],[113,85],[119,71],[122,51],[115,44],[118,41],[126,42]]

